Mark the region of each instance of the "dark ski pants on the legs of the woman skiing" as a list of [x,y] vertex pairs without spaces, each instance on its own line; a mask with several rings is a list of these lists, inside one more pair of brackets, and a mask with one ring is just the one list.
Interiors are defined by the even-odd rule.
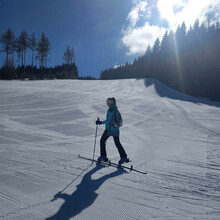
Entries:
[[[104,133],[102,134],[102,137],[101,137],[101,140],[100,140],[100,148],[101,148],[101,156],[102,157],[107,157],[107,154],[106,154],[106,141],[109,137],[110,136],[108,135],[108,131],[105,130]],[[120,143],[119,136],[113,136],[113,139],[114,139],[115,145],[118,149],[118,152],[120,154],[120,157],[121,158],[126,157],[127,154],[125,153],[125,150],[124,150],[123,146]]]

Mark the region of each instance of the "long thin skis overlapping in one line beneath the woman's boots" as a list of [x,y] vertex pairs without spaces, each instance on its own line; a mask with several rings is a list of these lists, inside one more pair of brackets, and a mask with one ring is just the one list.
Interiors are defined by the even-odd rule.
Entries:
[[126,170],[134,171],[134,172],[137,172],[137,173],[141,173],[141,174],[147,174],[147,172],[145,172],[145,171],[134,169],[133,165],[131,165],[129,167],[129,166],[125,166],[123,164],[119,165],[117,163],[113,163],[110,160],[108,160],[108,161],[93,160],[91,158],[81,156],[80,154],[78,154],[78,158],[81,158],[81,159],[84,159],[84,160],[88,160],[88,161],[91,161],[91,162],[100,163],[100,164],[103,164],[103,165],[106,165],[106,166],[112,166],[112,167],[119,168],[119,169],[126,169]]

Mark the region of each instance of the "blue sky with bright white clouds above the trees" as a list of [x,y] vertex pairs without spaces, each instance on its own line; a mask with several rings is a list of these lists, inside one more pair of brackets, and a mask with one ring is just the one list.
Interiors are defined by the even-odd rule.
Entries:
[[[220,0],[0,0],[0,34],[11,28],[18,37],[24,29],[39,39],[44,32],[51,43],[48,66],[62,64],[69,45],[79,75],[98,78],[132,62],[183,21],[187,28],[197,18],[207,22],[208,13],[220,21]],[[0,66],[4,61],[0,52]]]

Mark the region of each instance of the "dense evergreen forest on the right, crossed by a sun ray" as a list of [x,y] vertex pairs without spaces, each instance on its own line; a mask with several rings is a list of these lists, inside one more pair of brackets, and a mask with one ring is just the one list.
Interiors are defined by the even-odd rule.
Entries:
[[166,31],[162,40],[130,64],[103,70],[100,79],[155,78],[183,93],[220,101],[220,25],[196,20],[186,30]]

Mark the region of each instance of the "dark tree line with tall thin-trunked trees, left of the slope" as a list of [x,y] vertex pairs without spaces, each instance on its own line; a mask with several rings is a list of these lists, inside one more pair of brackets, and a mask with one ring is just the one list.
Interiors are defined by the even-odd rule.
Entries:
[[[1,52],[6,58],[3,67],[0,69],[0,79],[76,79],[78,68],[75,64],[73,47],[67,46],[64,51],[63,65],[47,67],[48,55],[51,51],[51,44],[45,33],[40,39],[35,34],[29,35],[22,30],[18,37],[11,29],[0,35]],[[27,51],[31,53],[31,64],[27,65]],[[17,59],[15,61],[15,55]],[[37,67],[35,61],[39,62]],[[17,63],[17,66],[16,66]]]

